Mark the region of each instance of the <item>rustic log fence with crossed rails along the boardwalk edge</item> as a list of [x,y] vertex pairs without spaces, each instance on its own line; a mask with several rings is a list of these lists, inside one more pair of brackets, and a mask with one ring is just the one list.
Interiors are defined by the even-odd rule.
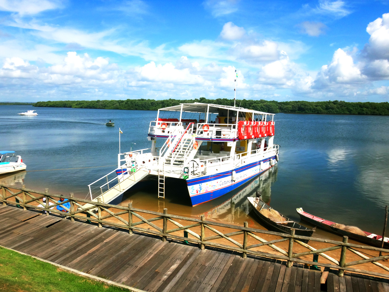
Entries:
[[[315,237],[297,236],[294,234],[293,229],[291,230],[291,234],[254,229],[248,227],[247,222],[245,222],[242,227],[238,225],[207,221],[204,220],[204,215],[202,215],[200,219],[196,219],[168,214],[167,209],[163,209],[163,213],[137,209],[133,208],[131,203],[128,204],[128,206],[104,204],[100,202],[100,200],[96,203],[74,198],[72,193],[70,193],[70,196],[51,194],[48,193],[47,189],[46,192],[37,192],[26,188],[15,188],[0,185],[0,191],[0,201],[3,202],[3,205],[9,204],[12,206],[18,206],[25,210],[27,208],[42,210],[43,212],[46,211],[47,216],[49,216],[50,213],[53,213],[68,216],[71,221],[74,221],[75,219],[89,220],[89,222],[96,222],[98,227],[102,227],[104,224],[126,229],[129,234],[133,234],[134,231],[154,234],[156,236],[161,236],[162,241],[166,241],[167,238],[172,238],[186,243],[196,243],[202,250],[205,249],[205,246],[214,246],[217,248],[233,250],[242,253],[243,258],[246,258],[247,254],[251,254],[271,259],[285,260],[287,261],[288,267],[290,267],[293,262],[296,262],[300,264],[338,269],[339,276],[343,276],[344,271],[352,271],[389,278],[389,273],[382,274],[373,271],[350,268],[350,266],[372,263],[384,271],[389,272],[388,267],[379,263],[380,261],[384,263],[387,259],[389,259],[389,250],[384,248],[375,248],[373,246],[347,243],[347,236],[343,237],[343,242]],[[46,198],[46,202],[42,201],[43,198]],[[60,198],[64,198],[64,201],[60,202]],[[70,203],[70,208],[64,206],[66,203]],[[83,208],[84,204],[92,204],[92,206],[89,205],[88,208]],[[38,205],[45,207],[38,207]],[[65,211],[57,210],[57,206],[62,206]],[[148,216],[154,217],[145,218]],[[158,226],[153,222],[162,224],[159,224]],[[187,222],[187,225],[182,225],[180,222]],[[231,232],[223,233],[220,229],[224,230],[224,232],[225,230]],[[263,235],[261,234],[280,238],[268,241],[262,238],[261,236]],[[332,246],[315,249],[302,242],[307,240],[326,243]],[[256,243],[248,245],[249,241],[256,241]],[[282,243],[284,241],[289,243],[287,250],[275,245],[276,243]],[[303,246],[307,249],[307,251],[296,252],[295,243],[298,244],[300,247],[299,249]],[[261,251],[259,250],[261,247],[271,248],[275,253]],[[338,260],[325,253],[337,249],[341,250]],[[358,255],[362,259],[346,262],[347,251]],[[366,256],[366,254],[374,252],[381,252],[384,255],[377,257]],[[315,258],[313,255],[320,255],[320,259],[325,259],[326,262],[301,259],[301,257],[306,257],[308,255],[312,255],[313,258]]]

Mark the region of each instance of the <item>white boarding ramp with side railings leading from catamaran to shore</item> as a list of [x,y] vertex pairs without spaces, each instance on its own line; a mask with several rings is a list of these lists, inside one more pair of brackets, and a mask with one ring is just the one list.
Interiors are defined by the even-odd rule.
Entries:
[[[130,169],[123,166],[117,168],[88,185],[91,201],[97,202],[100,199],[102,203],[108,204],[147,175],[149,175],[149,171],[144,169]],[[91,206],[93,204],[85,204],[79,209]]]

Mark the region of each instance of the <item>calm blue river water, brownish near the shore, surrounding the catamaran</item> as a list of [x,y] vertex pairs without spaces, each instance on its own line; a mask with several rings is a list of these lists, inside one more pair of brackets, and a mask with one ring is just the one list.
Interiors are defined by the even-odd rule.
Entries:
[[[28,109],[39,115],[17,115]],[[122,152],[131,146],[149,148],[147,130],[155,118],[156,111],[0,106],[0,150],[16,151],[27,165],[27,171],[0,176],[0,183],[86,198],[87,185],[117,165],[119,127]],[[106,120],[114,120],[115,127],[105,126]],[[157,185],[151,183],[126,192],[116,203],[132,201],[136,208],[168,208],[172,214],[204,214],[263,228],[246,200],[260,190],[274,209],[296,221],[296,208],[302,207],[331,221],[382,233],[389,205],[389,116],[276,114],[275,122],[279,163],[237,190],[191,207],[180,188],[170,186],[166,198],[158,199]]]

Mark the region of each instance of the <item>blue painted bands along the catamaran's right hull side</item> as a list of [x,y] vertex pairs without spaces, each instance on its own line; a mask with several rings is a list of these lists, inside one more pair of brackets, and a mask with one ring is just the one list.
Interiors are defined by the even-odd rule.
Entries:
[[[261,160],[263,161],[264,163],[265,162],[268,162],[270,160],[270,158],[273,158],[273,160],[275,161],[275,156],[273,157],[268,157],[264,160]],[[243,171],[246,171],[246,170],[249,170],[249,169],[252,169],[254,167],[259,167],[259,164],[261,163],[261,161],[258,161],[258,162],[254,162],[252,164],[248,164],[248,165],[244,165],[242,167],[239,167],[238,169],[235,169],[235,172],[237,173],[237,176],[239,174],[239,172],[243,172]],[[275,161],[276,163],[276,161]],[[228,186],[225,186],[225,187],[222,187],[222,188],[219,188],[219,189],[216,189],[216,190],[211,190],[209,192],[205,192],[205,193],[200,193],[198,195],[191,195],[190,198],[191,198],[191,202],[192,202],[192,206],[196,206],[198,204],[202,204],[204,202],[208,202],[210,200],[213,200],[213,199],[216,199],[228,192],[231,192],[232,190],[234,190],[235,188],[238,188],[239,186],[243,185],[244,183],[246,183],[247,181],[249,181],[250,179],[254,178],[255,176],[258,176],[259,174],[263,173],[264,171],[268,170],[270,167],[266,168],[266,169],[263,169],[262,171],[258,169],[258,171],[252,173],[252,175],[248,176],[247,178],[244,178],[240,181],[236,181],[235,183],[232,183],[231,185],[228,185]],[[217,179],[221,179],[221,178],[225,178],[227,176],[231,176],[231,171],[226,171],[226,172],[221,172],[219,174],[213,174],[213,175],[210,175],[210,176],[205,176],[205,177],[202,177],[202,178],[196,178],[196,179],[191,179],[191,180],[187,180],[187,185],[188,185],[188,191],[189,191],[189,195],[190,195],[190,190],[189,190],[189,187],[190,186],[193,186],[193,185],[197,185],[199,183],[207,183],[207,182],[212,182],[212,181],[215,181]]]

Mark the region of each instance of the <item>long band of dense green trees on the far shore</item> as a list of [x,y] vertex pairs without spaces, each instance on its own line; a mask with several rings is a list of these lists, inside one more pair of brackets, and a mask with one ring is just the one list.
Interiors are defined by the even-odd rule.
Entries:
[[[200,99],[193,100],[152,100],[152,99],[127,99],[127,100],[65,100],[46,101],[33,104],[35,107],[72,107],[82,109],[139,109],[157,110],[162,107],[176,106],[180,103],[202,102],[233,106],[231,99]],[[345,102],[338,100],[329,101],[283,101],[275,100],[237,100],[236,105],[255,111],[267,113],[310,113],[310,114],[373,114],[389,115],[388,102]]]

